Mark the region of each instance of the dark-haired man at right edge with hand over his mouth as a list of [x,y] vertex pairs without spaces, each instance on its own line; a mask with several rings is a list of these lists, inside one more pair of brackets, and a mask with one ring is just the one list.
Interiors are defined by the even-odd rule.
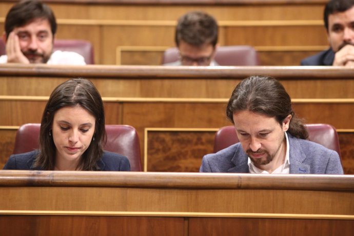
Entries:
[[330,48],[301,61],[302,66],[354,66],[354,0],[331,0],[324,10]]

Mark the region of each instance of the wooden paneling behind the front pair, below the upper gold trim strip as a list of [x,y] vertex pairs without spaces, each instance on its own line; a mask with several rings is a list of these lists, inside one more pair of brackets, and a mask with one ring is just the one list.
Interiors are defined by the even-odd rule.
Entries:
[[[39,123],[48,97],[12,97],[0,99],[0,108],[7,116],[0,117],[3,139],[0,141],[2,163],[5,164],[14,146],[15,131],[25,123]],[[201,158],[213,152],[213,137],[218,128],[229,125],[225,117],[227,101],[141,101],[103,98],[106,124],[125,124],[136,128],[140,146],[144,147],[142,163],[146,171],[198,171]],[[336,101],[297,103],[294,111],[307,123],[327,123],[339,129],[342,161],[346,173],[354,173],[354,143],[351,103]],[[336,116],[333,116],[333,113]],[[143,114],[143,115],[142,115]],[[142,119],[144,117],[144,119]],[[185,141],[185,142],[182,142]],[[188,145],[186,145],[188,144]],[[164,147],[170,147],[168,150]],[[162,164],[164,163],[164,164]],[[176,165],[178,163],[178,165]]]

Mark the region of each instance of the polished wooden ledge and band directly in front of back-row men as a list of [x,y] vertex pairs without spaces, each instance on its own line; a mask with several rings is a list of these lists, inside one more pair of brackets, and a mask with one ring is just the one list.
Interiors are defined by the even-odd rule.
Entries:
[[[104,97],[228,99],[250,75],[278,78],[292,99],[353,99],[353,69],[341,67],[163,67],[0,65],[0,95],[49,96],[72,77],[89,78]],[[153,89],[152,89],[153,88]]]

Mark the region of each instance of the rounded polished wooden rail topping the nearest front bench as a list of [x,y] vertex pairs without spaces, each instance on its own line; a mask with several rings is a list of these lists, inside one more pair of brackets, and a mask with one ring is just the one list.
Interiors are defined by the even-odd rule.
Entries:
[[354,191],[354,176],[0,170],[0,186]]

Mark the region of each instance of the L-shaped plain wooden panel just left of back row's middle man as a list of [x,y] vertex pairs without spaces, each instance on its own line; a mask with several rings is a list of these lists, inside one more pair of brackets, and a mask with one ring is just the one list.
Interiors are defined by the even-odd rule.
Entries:
[[118,46],[173,46],[174,27],[104,26],[102,29],[102,63],[116,63]]

